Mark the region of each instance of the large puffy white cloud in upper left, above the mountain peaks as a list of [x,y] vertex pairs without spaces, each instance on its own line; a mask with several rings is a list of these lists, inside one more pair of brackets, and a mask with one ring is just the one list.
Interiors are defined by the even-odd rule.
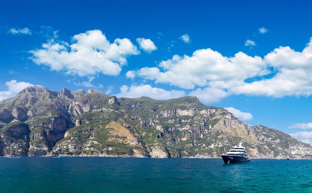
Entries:
[[90,30],[74,35],[71,43],[51,39],[42,44],[41,49],[29,53],[38,65],[83,77],[99,73],[118,75],[127,64],[126,58],[140,52],[127,38],[117,38],[110,43],[102,31]]

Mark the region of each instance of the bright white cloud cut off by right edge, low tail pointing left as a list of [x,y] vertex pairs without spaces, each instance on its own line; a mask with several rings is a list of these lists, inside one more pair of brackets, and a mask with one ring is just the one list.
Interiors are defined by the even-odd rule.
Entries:
[[267,67],[273,67],[272,77],[232,87],[235,94],[310,96],[312,94],[312,39],[302,52],[279,47],[264,57]]

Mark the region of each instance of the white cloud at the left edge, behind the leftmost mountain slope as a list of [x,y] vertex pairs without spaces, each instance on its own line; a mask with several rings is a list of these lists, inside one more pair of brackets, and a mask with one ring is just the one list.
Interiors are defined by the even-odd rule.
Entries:
[[0,91],[0,101],[15,96],[17,93],[28,86],[34,86],[28,82],[17,82],[16,80],[5,82],[5,85],[7,86],[8,90]]

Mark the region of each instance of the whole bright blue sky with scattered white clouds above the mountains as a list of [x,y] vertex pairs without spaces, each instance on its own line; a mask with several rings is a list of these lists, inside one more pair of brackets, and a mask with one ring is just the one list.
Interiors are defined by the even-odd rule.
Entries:
[[312,144],[310,0],[4,0],[0,100],[41,85],[194,95]]

